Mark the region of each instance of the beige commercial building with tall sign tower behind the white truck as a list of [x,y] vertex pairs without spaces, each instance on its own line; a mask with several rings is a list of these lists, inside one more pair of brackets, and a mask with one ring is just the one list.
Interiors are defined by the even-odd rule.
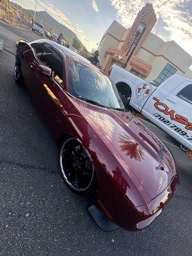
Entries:
[[102,69],[108,72],[115,63],[157,85],[173,74],[192,79],[192,57],[174,41],[164,42],[151,33],[156,21],[154,8],[148,3],[131,28],[125,29],[114,20],[99,45]]

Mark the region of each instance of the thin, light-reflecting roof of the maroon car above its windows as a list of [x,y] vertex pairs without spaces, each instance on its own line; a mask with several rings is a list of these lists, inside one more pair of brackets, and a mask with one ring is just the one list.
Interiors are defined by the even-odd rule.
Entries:
[[70,60],[74,60],[74,61],[77,61],[77,62],[83,64],[83,65],[86,65],[86,66],[92,68],[93,70],[96,70],[100,74],[103,74],[104,76],[106,76],[102,71],[99,70],[99,68],[92,65],[92,63],[89,60],[86,60],[86,58],[84,58],[83,56],[79,55],[78,53],[76,53],[76,52],[74,52],[70,49],[68,49],[67,47],[65,47],[63,45],[60,45],[56,42],[52,42],[51,40],[47,40],[47,39],[40,39],[40,40],[36,40],[35,42],[50,44],[54,48],[56,48],[58,51],[60,51],[63,55],[67,55],[68,58],[70,58]]

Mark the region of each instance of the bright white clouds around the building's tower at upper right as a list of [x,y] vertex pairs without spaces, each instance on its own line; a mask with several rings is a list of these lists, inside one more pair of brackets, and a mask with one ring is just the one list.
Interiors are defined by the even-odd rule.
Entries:
[[191,0],[110,0],[116,8],[118,20],[128,28],[137,13],[145,5],[152,3],[157,14],[157,24],[153,33],[163,40],[174,40],[192,55],[192,17],[189,10]]

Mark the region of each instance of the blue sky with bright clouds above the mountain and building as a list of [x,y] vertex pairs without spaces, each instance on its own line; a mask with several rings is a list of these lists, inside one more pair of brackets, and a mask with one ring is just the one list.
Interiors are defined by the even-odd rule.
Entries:
[[[35,0],[12,1],[35,8]],[[157,15],[152,33],[165,41],[174,40],[192,56],[192,0],[37,0],[37,10],[47,11],[72,29],[91,51],[113,20],[131,27],[145,3],[152,3]]]

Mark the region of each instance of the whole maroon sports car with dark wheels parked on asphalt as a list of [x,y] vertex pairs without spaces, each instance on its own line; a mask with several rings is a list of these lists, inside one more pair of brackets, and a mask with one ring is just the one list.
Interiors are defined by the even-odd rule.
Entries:
[[172,154],[126,111],[115,84],[49,40],[16,44],[15,81],[26,83],[59,152],[61,175],[104,230],[147,227],[179,186]]

